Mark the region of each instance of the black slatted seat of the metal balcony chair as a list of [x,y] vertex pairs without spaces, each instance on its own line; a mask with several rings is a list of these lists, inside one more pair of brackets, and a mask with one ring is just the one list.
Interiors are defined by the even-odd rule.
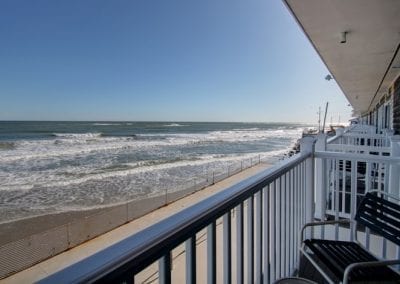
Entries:
[[[354,242],[310,239],[304,244],[314,253],[314,257],[331,270],[338,279],[343,279],[347,266],[356,262],[377,261],[378,259]],[[386,266],[355,268],[351,281],[400,281],[399,274]]]

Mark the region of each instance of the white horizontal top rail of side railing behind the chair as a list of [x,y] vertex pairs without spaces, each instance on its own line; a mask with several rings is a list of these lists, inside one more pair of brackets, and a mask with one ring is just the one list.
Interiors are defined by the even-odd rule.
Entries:
[[354,154],[348,152],[331,152],[331,151],[315,151],[315,158],[322,159],[342,159],[342,160],[356,160],[373,163],[389,163],[400,164],[400,157],[378,156],[370,154]]

